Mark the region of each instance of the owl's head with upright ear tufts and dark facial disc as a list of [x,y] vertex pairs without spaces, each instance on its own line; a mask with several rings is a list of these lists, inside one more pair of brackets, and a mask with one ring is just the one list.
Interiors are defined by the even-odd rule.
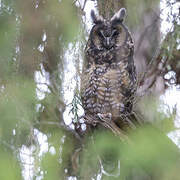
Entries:
[[125,16],[125,8],[121,8],[110,20],[97,16],[92,10],[91,18],[94,26],[90,32],[91,47],[110,50],[123,45],[128,33],[123,24]]

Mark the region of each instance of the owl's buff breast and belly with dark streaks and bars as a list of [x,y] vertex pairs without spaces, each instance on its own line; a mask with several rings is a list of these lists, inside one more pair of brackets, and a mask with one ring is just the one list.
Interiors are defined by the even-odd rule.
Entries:
[[111,113],[116,118],[125,111],[131,93],[127,93],[130,76],[124,66],[121,62],[116,68],[93,65],[86,70],[81,88],[85,113]]

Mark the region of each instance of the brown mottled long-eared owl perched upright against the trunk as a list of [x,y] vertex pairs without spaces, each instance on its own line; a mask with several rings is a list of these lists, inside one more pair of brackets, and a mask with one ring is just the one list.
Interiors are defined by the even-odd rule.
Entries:
[[91,11],[93,27],[85,48],[81,98],[91,123],[107,120],[118,127],[131,124],[128,117],[136,93],[134,43],[124,25],[125,8],[110,20]]

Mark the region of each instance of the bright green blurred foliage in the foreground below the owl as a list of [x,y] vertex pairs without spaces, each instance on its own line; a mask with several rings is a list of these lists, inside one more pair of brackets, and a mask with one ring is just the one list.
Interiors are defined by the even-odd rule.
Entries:
[[118,179],[179,178],[179,149],[165,134],[146,126],[130,132],[129,139],[129,143],[123,143],[107,132],[95,135],[84,150],[87,168],[82,169],[83,178],[99,173],[105,179],[107,174],[107,179],[114,179],[118,173],[112,168],[117,160],[120,160]]

